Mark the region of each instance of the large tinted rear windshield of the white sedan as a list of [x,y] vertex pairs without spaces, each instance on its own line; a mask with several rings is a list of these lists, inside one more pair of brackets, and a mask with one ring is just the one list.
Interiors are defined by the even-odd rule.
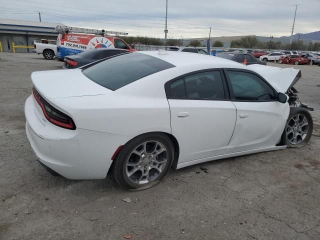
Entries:
[[82,70],[82,73],[97,84],[116,90],[171,67],[174,65],[157,57],[131,52],[96,63]]

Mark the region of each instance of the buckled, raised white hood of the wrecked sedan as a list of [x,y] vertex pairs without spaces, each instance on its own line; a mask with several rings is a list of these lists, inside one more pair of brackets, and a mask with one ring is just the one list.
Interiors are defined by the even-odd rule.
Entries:
[[301,77],[299,69],[263,66],[259,64],[249,65],[248,68],[263,76],[277,91],[285,93]]

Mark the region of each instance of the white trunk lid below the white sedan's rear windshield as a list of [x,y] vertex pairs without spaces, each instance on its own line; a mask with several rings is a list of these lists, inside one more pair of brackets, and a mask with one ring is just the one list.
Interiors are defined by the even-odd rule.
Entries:
[[91,81],[81,69],[35,71],[31,80],[45,98],[101,95],[111,91]]

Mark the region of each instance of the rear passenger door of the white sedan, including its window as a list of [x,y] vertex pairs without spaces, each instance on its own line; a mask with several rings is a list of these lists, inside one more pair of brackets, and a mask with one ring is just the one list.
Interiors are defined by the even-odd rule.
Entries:
[[220,69],[189,73],[165,83],[179,162],[224,153],[236,117],[225,89]]

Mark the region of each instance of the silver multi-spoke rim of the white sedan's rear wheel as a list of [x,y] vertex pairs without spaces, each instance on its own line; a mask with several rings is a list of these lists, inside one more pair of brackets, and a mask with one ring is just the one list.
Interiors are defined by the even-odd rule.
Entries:
[[135,184],[145,184],[157,178],[168,160],[167,149],[159,141],[137,145],[125,163],[125,174]]

